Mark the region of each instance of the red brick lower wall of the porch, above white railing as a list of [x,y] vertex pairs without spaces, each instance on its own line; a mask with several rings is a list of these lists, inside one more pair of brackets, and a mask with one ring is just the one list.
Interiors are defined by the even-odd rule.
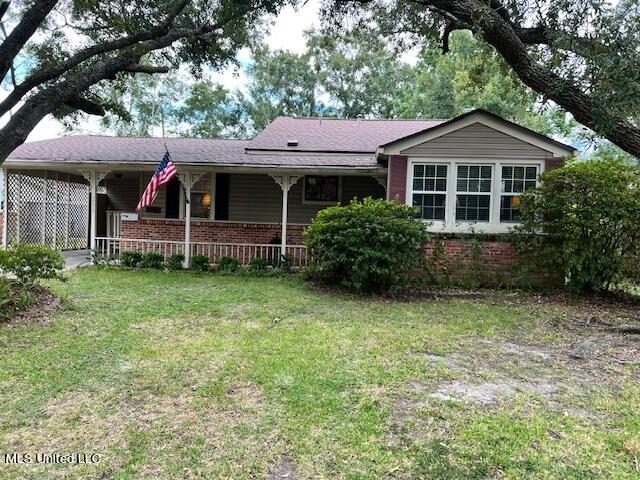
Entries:
[[[287,226],[287,243],[303,245],[302,225]],[[280,238],[278,223],[191,222],[192,242],[268,244]],[[141,219],[122,222],[122,238],[184,241],[184,220]]]

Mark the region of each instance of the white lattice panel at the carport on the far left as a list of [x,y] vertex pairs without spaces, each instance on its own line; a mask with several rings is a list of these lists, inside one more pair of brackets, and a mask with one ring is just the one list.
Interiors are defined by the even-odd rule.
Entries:
[[88,248],[89,186],[69,175],[9,172],[9,243]]

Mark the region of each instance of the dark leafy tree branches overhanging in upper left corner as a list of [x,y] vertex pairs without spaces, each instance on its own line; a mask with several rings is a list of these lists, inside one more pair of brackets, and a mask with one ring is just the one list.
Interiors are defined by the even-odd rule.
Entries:
[[[294,1],[294,0],[291,0]],[[36,0],[2,2],[0,162],[48,114],[104,115],[108,81],[187,65],[219,69],[260,37],[289,0]],[[113,100],[113,99],[112,99]]]

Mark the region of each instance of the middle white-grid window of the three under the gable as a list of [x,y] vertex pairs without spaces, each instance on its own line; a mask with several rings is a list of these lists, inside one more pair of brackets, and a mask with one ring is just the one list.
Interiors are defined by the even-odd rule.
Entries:
[[456,221],[488,222],[491,204],[489,165],[459,165],[456,180]]

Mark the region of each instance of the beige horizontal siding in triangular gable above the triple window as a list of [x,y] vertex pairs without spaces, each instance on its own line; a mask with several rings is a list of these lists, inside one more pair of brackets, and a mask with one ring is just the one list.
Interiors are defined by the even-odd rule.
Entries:
[[495,158],[540,160],[552,156],[535,147],[481,123],[474,123],[455,132],[416,145],[403,155],[431,158]]

